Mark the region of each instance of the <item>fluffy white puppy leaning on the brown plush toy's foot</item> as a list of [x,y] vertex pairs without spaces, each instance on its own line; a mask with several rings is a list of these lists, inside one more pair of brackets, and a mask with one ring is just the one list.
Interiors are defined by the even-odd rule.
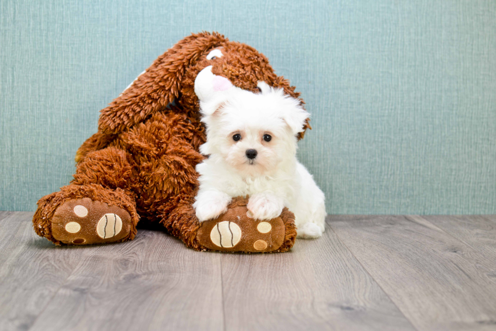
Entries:
[[195,80],[209,155],[196,166],[199,190],[196,216],[201,221],[227,211],[232,197],[249,195],[255,219],[279,216],[284,207],[295,214],[298,237],[316,238],[324,231],[324,194],[296,158],[296,135],[309,114],[300,102],[259,82],[260,94],[232,86],[206,67]]

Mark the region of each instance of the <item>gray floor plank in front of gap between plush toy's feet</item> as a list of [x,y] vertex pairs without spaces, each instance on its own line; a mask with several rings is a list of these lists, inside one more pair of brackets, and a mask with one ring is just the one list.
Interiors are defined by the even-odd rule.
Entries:
[[163,232],[141,232],[93,249],[31,329],[222,329],[220,256],[185,250]]

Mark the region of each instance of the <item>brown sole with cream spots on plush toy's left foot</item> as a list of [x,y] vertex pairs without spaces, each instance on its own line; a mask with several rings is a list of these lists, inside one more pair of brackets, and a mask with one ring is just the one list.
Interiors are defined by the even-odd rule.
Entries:
[[90,198],[72,199],[57,208],[52,234],[66,244],[113,242],[129,236],[131,216],[122,208]]

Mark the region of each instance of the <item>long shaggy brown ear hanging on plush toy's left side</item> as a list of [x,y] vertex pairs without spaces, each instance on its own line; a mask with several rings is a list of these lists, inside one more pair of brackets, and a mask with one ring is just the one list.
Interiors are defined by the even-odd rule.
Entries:
[[187,66],[204,52],[226,43],[219,33],[192,34],[157,58],[128,89],[101,110],[99,131],[116,134],[139,123],[179,97]]

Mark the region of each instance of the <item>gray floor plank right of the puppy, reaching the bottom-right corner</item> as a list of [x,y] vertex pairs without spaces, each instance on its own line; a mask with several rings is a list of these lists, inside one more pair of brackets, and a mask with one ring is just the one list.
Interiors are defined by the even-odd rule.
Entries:
[[416,216],[327,222],[418,329],[496,329],[496,265],[472,247]]

